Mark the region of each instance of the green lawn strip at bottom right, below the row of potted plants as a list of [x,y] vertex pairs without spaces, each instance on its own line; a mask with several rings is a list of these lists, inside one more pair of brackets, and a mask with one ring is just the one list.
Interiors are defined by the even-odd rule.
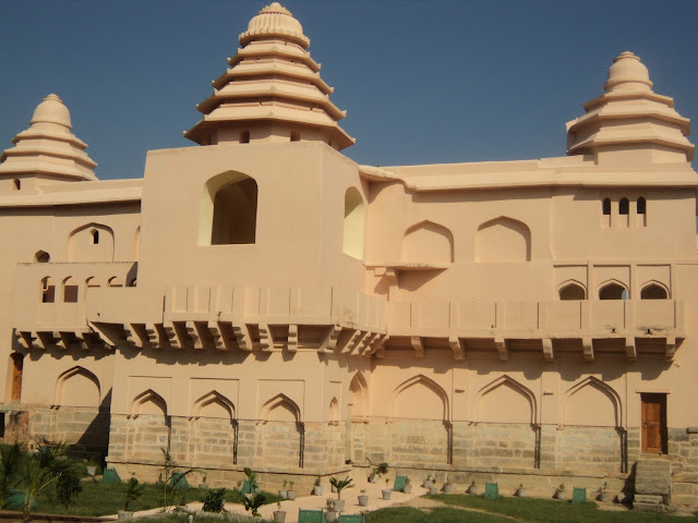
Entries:
[[[592,523],[638,523],[638,522],[698,522],[697,516],[686,518],[667,514],[652,514],[634,511],[607,511],[600,510],[597,503],[571,503],[569,501],[556,501],[552,499],[513,498],[501,497],[497,499],[484,499],[481,496],[465,495],[435,495],[428,498],[446,504],[484,510],[491,514],[508,515],[520,521],[530,522],[558,522]],[[426,520],[431,521],[431,520]],[[458,520],[468,521],[468,520]]]

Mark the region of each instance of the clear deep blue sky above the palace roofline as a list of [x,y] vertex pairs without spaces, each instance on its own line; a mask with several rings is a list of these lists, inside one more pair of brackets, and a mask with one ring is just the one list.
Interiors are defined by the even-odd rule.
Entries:
[[[186,147],[194,109],[268,0],[0,0],[0,149],[56,93],[103,179]],[[565,154],[565,122],[630,50],[698,125],[696,0],[286,0],[381,166]],[[689,139],[698,142],[698,132]]]

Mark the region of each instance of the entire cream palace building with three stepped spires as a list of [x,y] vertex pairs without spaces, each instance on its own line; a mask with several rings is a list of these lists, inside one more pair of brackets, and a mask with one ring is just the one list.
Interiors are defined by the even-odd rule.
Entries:
[[145,481],[166,448],[213,485],[372,460],[698,506],[695,147],[640,59],[599,71],[559,157],[374,167],[309,45],[262,9],[196,146],[142,179],[97,180],[36,107],[0,156],[4,440]]

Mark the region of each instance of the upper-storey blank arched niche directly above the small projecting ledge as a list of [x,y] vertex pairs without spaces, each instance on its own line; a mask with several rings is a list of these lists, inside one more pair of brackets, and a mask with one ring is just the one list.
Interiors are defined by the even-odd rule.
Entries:
[[454,234],[446,227],[424,220],[405,231],[402,262],[407,264],[453,264]]

